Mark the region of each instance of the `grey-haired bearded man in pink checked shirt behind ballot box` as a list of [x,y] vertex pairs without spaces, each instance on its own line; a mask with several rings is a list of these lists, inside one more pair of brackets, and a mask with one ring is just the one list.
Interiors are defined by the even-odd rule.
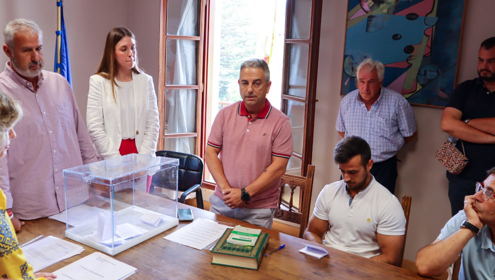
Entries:
[[98,158],[67,80],[42,70],[43,35],[38,25],[14,19],[5,25],[3,37],[10,61],[0,73],[0,90],[19,100],[24,111],[15,125],[18,136],[0,159],[0,187],[18,231],[21,219],[64,210],[62,170]]

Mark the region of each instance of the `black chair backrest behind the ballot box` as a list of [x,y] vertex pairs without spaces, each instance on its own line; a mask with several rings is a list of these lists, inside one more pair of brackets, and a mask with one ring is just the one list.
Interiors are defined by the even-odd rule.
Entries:
[[178,190],[185,191],[194,184],[201,184],[203,179],[204,164],[201,157],[184,152],[171,150],[158,150],[157,156],[165,156],[179,159],[178,166]]

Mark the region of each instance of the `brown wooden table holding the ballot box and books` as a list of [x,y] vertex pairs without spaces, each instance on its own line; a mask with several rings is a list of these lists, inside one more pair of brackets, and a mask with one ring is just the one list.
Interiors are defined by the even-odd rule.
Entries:
[[[191,208],[194,218],[202,217],[261,228],[181,203],[179,208]],[[187,223],[179,222],[178,226],[113,257],[138,269],[129,279],[423,279],[410,270],[329,247],[325,247],[329,255],[316,259],[298,252],[304,247],[301,242],[307,241],[266,228],[262,228],[263,232],[270,234],[266,251],[281,244],[285,244],[285,247],[263,257],[258,270],[214,265],[211,264],[212,256],[207,249],[197,250],[163,239],[163,236]],[[65,238],[64,231],[65,223],[40,218],[25,221],[17,237],[20,244],[41,234],[53,235],[76,243]],[[95,251],[86,245],[82,246],[85,250],[80,255],[55,263],[43,271],[54,271]]]

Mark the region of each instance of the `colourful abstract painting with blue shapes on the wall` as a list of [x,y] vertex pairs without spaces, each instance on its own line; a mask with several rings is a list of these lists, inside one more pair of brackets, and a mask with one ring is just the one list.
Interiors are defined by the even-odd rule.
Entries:
[[367,57],[411,104],[445,106],[455,86],[465,0],[349,0],[341,95]]

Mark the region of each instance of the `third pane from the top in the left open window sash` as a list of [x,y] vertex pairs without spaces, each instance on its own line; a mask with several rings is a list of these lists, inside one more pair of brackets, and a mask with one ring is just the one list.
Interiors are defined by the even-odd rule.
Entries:
[[196,132],[197,89],[165,90],[165,134]]

